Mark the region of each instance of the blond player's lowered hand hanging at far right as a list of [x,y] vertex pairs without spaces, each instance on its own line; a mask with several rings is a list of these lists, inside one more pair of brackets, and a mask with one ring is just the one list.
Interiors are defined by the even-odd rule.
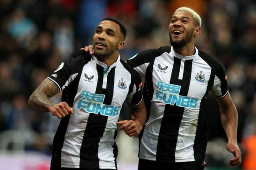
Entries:
[[237,145],[237,143],[234,142],[229,142],[226,145],[226,148],[229,152],[231,152],[235,157],[230,159],[228,164],[230,166],[237,166],[239,164],[241,164],[241,151]]

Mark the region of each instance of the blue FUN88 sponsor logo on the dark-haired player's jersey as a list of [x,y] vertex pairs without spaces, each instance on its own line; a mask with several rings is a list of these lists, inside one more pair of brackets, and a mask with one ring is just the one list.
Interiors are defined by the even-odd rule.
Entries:
[[103,104],[104,98],[104,94],[94,94],[88,91],[83,91],[76,108],[81,109],[82,107],[88,113],[100,113],[101,115],[106,116],[119,115],[121,107]]

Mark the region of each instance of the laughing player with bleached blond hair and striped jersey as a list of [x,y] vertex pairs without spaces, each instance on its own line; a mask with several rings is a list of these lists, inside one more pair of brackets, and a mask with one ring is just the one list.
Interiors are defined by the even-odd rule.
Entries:
[[[205,102],[210,92],[220,106],[226,148],[241,163],[237,145],[236,107],[228,92],[224,66],[194,43],[201,18],[191,8],[178,8],[169,24],[170,46],[139,52],[127,61],[145,77],[147,121],[140,133],[138,170],[203,170],[208,127]],[[93,53],[91,47],[86,51]]]

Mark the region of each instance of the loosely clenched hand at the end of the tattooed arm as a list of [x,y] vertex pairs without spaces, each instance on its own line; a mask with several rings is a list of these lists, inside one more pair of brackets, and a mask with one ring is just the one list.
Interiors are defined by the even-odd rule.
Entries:
[[53,116],[57,116],[59,119],[66,117],[69,113],[73,114],[73,108],[69,107],[66,102],[61,102],[59,104],[54,104],[49,107],[49,111]]

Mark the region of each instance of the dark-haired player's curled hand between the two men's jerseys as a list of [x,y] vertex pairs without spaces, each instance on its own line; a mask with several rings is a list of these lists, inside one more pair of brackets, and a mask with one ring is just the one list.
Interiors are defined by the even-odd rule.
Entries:
[[138,121],[134,120],[122,120],[116,122],[116,125],[121,125],[120,130],[124,130],[126,135],[132,137],[136,136],[142,130],[142,125]]

